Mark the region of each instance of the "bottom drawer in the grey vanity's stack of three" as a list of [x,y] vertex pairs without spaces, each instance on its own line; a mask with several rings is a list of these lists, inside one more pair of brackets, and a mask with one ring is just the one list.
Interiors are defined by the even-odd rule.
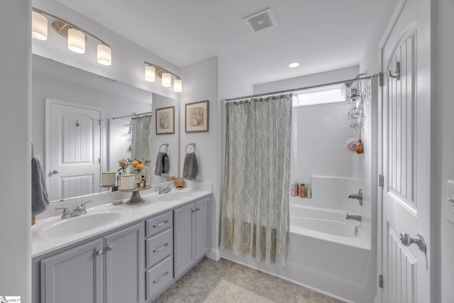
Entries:
[[157,264],[145,273],[147,283],[147,299],[163,290],[173,280],[172,256]]

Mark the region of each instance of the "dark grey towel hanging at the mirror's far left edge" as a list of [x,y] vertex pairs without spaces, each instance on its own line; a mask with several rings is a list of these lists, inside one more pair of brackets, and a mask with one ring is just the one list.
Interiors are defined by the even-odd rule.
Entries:
[[45,187],[43,167],[40,161],[31,159],[31,214],[36,216],[45,211],[49,206],[48,190]]

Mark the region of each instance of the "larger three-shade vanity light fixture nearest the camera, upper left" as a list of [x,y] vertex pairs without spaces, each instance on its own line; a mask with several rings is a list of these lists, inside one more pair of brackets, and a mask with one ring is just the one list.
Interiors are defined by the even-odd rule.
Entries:
[[32,28],[31,35],[33,38],[38,40],[47,40],[48,39],[48,18],[46,16],[55,19],[52,21],[51,26],[60,35],[67,38],[68,48],[74,53],[84,54],[85,53],[85,40],[87,35],[99,41],[97,46],[97,60],[101,65],[111,65],[112,64],[112,50],[109,44],[92,35],[91,33],[84,31],[78,26],[58,18],[57,16],[47,13],[40,9],[32,10]]

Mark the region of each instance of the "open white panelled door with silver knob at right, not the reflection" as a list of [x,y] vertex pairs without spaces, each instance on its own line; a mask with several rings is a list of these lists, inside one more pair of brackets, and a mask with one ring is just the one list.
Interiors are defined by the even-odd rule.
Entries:
[[[421,4],[399,1],[382,39],[382,302],[431,302],[429,254],[430,63]],[[421,22],[420,22],[421,21]],[[380,262],[380,261],[379,261]]]

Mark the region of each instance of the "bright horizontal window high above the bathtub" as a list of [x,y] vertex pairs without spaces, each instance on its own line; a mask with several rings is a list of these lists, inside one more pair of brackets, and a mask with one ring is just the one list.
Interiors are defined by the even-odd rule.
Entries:
[[293,106],[306,106],[341,101],[345,101],[344,84],[306,89],[305,91],[297,93],[297,97],[293,99]]

